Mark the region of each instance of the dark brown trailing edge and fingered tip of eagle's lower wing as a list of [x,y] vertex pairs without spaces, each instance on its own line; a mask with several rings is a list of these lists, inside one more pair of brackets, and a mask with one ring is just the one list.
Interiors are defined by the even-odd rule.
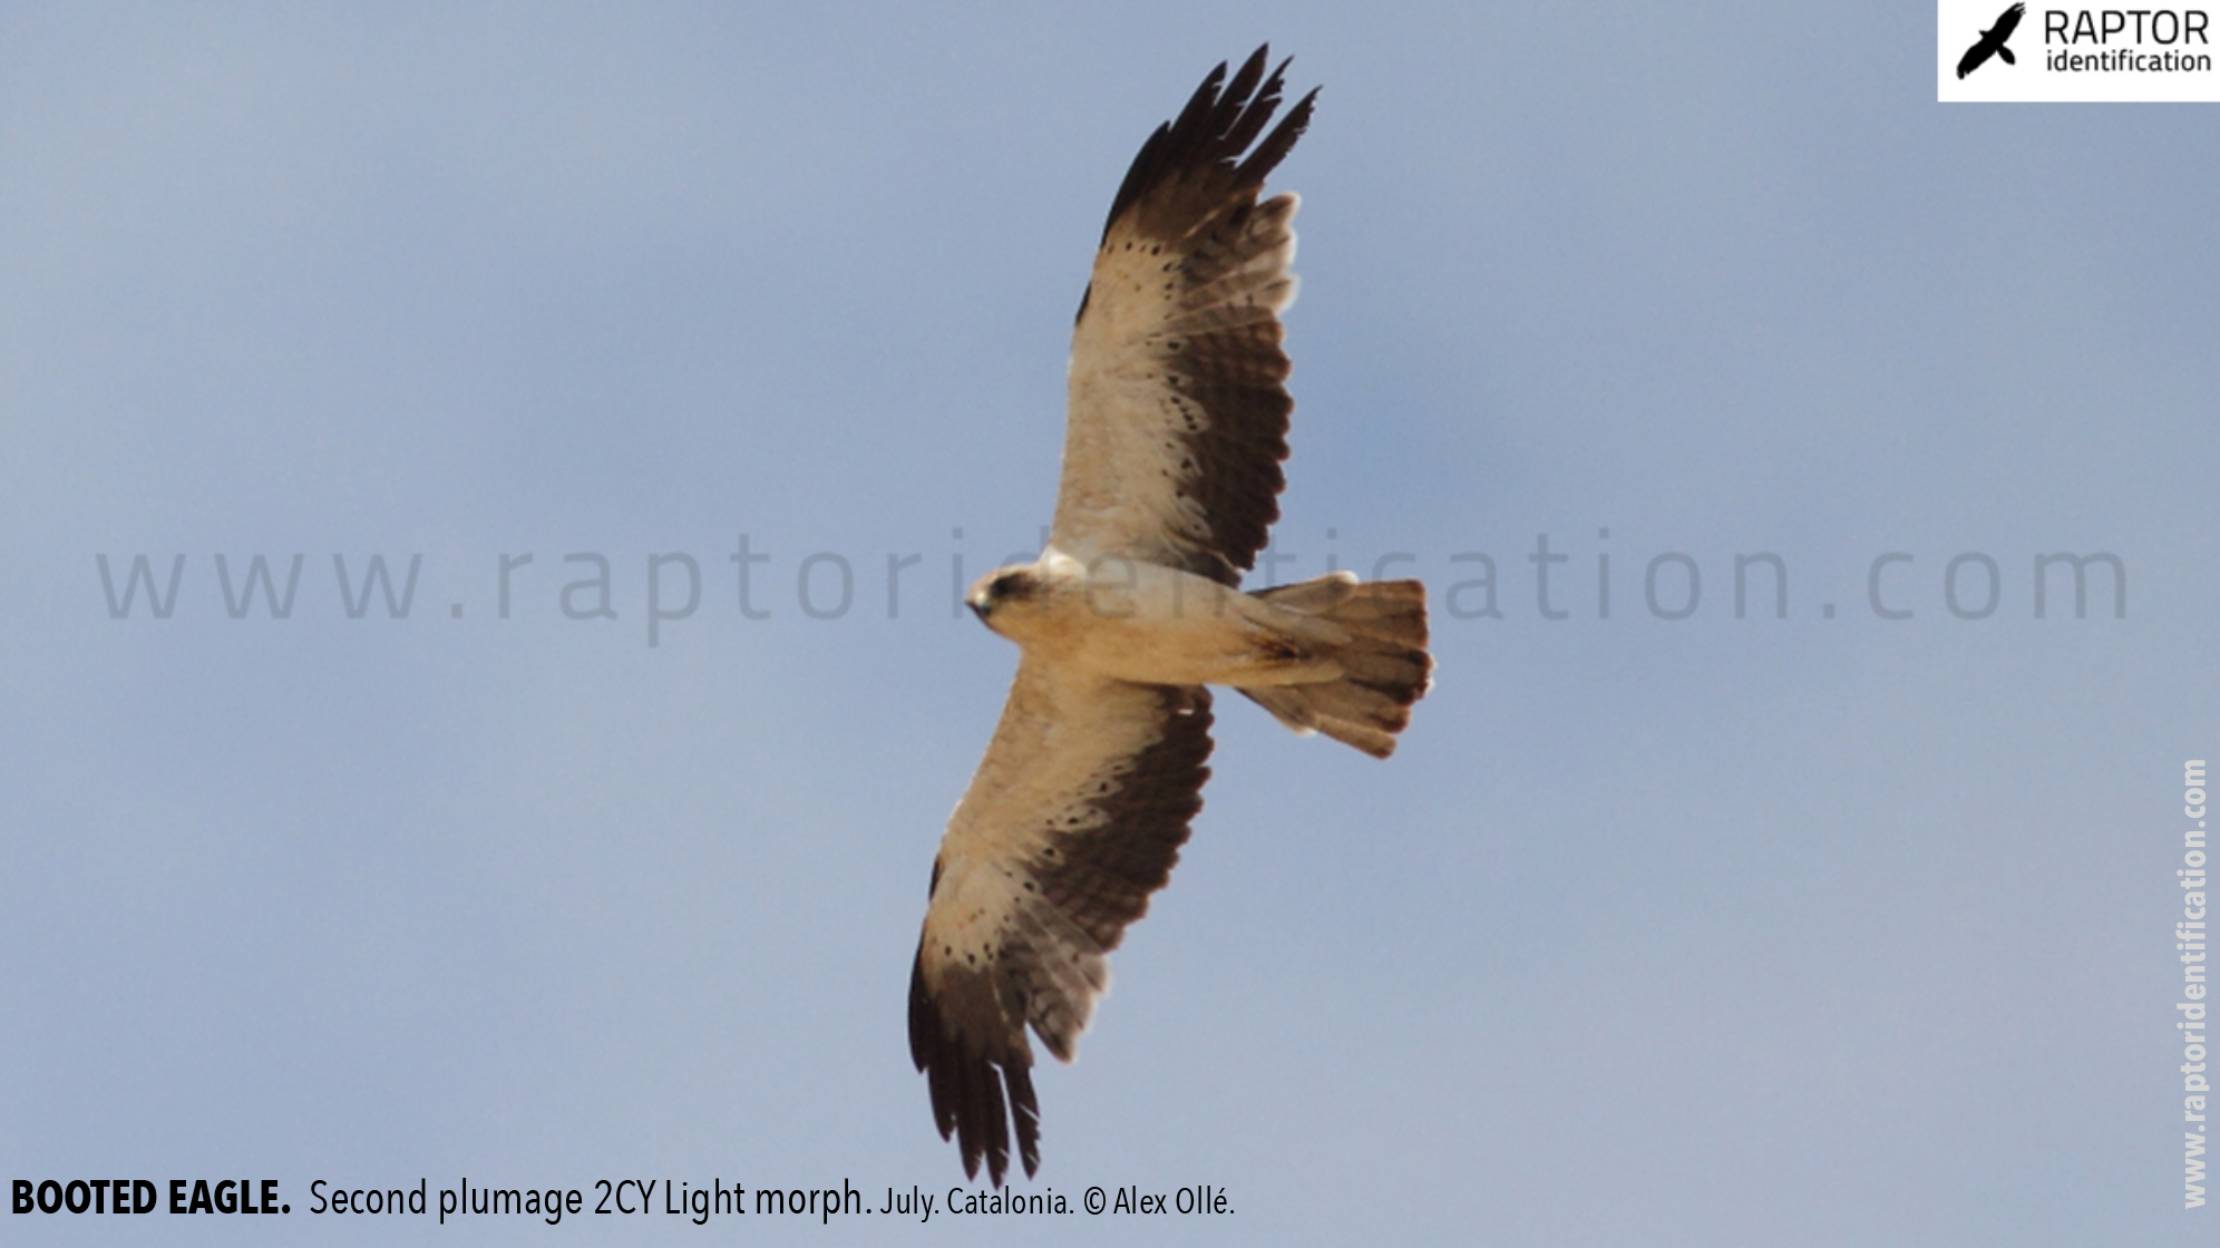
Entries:
[[[1188,842],[1188,824],[1203,808],[1210,777],[1210,691],[1159,691],[1163,735],[1132,766],[1088,795],[1103,813],[1092,828],[1066,835],[1028,864],[1041,897],[1088,933],[1103,953],[1117,948],[1126,926],[1148,913],[1148,895],[1163,888]],[[939,884],[939,864],[932,868]],[[963,1175],[999,1188],[1010,1170],[1010,1124],[1026,1177],[1041,1168],[1041,1104],[1032,1093],[1032,1048],[1026,1024],[1050,1053],[1070,1061],[1077,1026],[1059,1002],[1035,999],[1048,984],[1041,959],[1070,955],[1035,948],[1023,935],[1006,937],[988,970],[944,975],[939,993],[926,988],[924,944],[910,964],[910,1061],[932,1093],[932,1121],[955,1139]]]

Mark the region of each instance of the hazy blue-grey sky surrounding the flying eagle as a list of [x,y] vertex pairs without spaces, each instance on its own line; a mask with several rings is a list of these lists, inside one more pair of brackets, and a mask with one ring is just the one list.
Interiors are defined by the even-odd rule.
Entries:
[[[1126,162],[1261,40],[1323,84],[1279,577],[1407,555],[1439,684],[1385,764],[1221,700],[1017,1184],[1234,1215],[708,1232],[2209,1244],[2220,131],[1938,107],[1916,7],[0,11],[0,1177],[295,1210],[147,1244],[946,1199],[904,993],[1015,664],[950,584],[1039,542]],[[333,555],[422,557],[406,620]]]

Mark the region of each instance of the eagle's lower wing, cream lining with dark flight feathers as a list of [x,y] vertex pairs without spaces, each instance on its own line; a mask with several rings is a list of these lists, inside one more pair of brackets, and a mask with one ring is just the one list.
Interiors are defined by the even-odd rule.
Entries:
[[1039,1168],[1026,1026],[1072,1059],[1110,984],[1108,953],[1188,842],[1208,757],[1208,691],[1019,662],[932,862],[910,970],[910,1057],[966,1175],[986,1157],[1001,1186],[1010,1121],[1026,1175]]

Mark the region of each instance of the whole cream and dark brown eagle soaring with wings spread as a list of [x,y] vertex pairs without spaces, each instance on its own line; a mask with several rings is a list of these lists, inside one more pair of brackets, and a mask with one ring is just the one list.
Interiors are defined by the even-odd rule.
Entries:
[[[1072,331],[1048,546],[966,602],[1019,644],[995,739],[948,819],[910,970],[910,1057],[941,1139],[1032,1175],[1030,1026],[1070,1061],[1108,955],[1172,875],[1210,775],[1210,684],[1388,757],[1434,666],[1425,586],[1350,573],[1243,593],[1279,520],[1294,300],[1290,193],[1310,122],[1265,49],[1157,127],[1110,204]],[[1259,138],[1261,135],[1261,138]]]

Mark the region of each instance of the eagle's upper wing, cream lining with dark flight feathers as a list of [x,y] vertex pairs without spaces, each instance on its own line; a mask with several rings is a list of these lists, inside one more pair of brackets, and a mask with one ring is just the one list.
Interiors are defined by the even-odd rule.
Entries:
[[[1257,202],[1310,122],[1279,109],[1285,62],[1219,64],[1157,127],[1110,204],[1072,329],[1063,482],[1050,542],[1239,584],[1279,520],[1288,457],[1294,195]],[[1263,135],[1259,142],[1257,135]],[[1250,151],[1250,144],[1257,144]]]

